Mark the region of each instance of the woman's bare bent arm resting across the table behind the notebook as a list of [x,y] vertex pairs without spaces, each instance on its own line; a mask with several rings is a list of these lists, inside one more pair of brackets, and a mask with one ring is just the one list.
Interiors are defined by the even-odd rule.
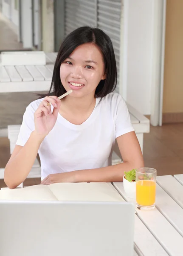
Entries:
[[41,184],[58,182],[113,182],[122,181],[124,172],[144,167],[141,147],[134,131],[117,137],[123,163],[98,169],[79,170],[48,175]]

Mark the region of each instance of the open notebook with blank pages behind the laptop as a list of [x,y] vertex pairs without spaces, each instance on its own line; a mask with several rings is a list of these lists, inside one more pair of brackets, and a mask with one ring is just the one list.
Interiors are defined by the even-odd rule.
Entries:
[[0,200],[33,201],[123,201],[111,183],[54,183],[21,189],[0,190]]

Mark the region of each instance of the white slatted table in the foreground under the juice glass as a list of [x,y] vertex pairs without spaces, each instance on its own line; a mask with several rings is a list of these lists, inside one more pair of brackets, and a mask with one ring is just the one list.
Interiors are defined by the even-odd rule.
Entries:
[[[113,185],[124,198],[123,182]],[[183,256],[183,174],[157,177],[156,207],[136,209],[135,250],[139,256]]]

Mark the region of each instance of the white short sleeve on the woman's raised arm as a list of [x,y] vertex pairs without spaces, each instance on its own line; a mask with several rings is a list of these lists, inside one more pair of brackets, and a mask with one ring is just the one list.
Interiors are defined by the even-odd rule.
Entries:
[[23,115],[23,122],[20,127],[16,145],[24,146],[29,139],[31,132],[34,131],[34,112],[32,105],[28,105]]

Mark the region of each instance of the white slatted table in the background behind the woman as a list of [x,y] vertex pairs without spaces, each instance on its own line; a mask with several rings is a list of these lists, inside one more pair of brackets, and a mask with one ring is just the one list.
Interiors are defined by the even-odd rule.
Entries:
[[47,91],[56,56],[57,52],[46,53],[46,65],[0,65],[0,93]]

